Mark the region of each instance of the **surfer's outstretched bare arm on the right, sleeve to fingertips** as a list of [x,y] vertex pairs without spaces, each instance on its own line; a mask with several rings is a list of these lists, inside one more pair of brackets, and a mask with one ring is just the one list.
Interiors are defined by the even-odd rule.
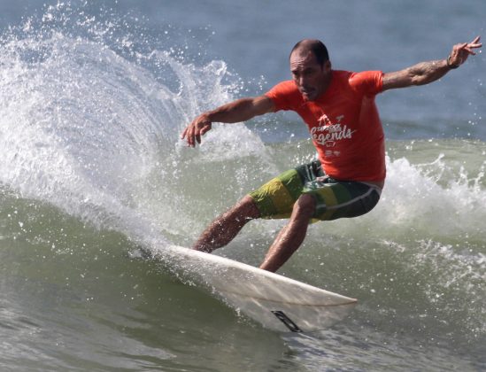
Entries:
[[446,59],[421,62],[395,73],[383,74],[382,90],[424,85],[440,79],[451,69],[458,68],[466,62],[469,55],[474,55],[474,49],[482,47],[482,43],[479,42],[480,38],[477,36],[471,43],[454,45],[451,54]]

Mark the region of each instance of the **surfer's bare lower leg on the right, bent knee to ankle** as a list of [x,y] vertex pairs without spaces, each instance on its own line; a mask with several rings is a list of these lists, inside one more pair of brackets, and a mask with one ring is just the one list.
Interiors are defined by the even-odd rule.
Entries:
[[304,242],[307,227],[314,211],[315,199],[312,196],[304,194],[297,199],[289,223],[275,238],[274,244],[266,252],[265,260],[263,260],[260,268],[275,272],[289,260],[290,256]]

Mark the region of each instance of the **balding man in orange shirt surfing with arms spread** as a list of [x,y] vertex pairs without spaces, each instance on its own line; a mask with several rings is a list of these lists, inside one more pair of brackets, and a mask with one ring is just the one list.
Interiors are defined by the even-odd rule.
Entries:
[[193,248],[212,252],[228,244],[257,218],[286,218],[260,268],[276,271],[302,244],[310,221],[356,217],[378,203],[385,180],[382,124],[374,104],[388,89],[436,81],[462,65],[480,36],[452,47],[442,60],[422,62],[394,73],[351,73],[331,68],[326,46],[303,40],[290,53],[292,81],[264,96],[237,99],[204,112],[182,133],[189,146],[201,143],[212,122],[235,123],[279,110],[297,112],[309,128],[319,160],[280,174],[242,198],[204,230]]

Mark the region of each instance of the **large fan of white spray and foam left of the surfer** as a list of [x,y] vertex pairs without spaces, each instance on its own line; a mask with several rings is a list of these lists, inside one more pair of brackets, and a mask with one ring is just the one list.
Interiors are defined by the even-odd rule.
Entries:
[[[160,227],[174,229],[171,216],[188,218],[171,181],[184,161],[264,151],[241,124],[215,126],[199,150],[181,147],[189,120],[231,99],[223,62],[198,67],[157,50],[128,60],[100,41],[45,28],[9,37],[0,45],[0,183],[23,198],[160,243]],[[168,66],[180,89],[158,82],[143,67],[149,60]]]

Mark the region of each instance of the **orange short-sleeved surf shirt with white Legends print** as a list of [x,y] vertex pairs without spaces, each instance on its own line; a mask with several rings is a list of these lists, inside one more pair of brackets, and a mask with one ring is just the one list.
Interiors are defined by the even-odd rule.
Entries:
[[342,181],[382,181],[385,143],[374,97],[382,91],[381,71],[332,71],[328,89],[307,101],[294,81],[266,93],[275,111],[297,112],[311,132],[324,171]]

